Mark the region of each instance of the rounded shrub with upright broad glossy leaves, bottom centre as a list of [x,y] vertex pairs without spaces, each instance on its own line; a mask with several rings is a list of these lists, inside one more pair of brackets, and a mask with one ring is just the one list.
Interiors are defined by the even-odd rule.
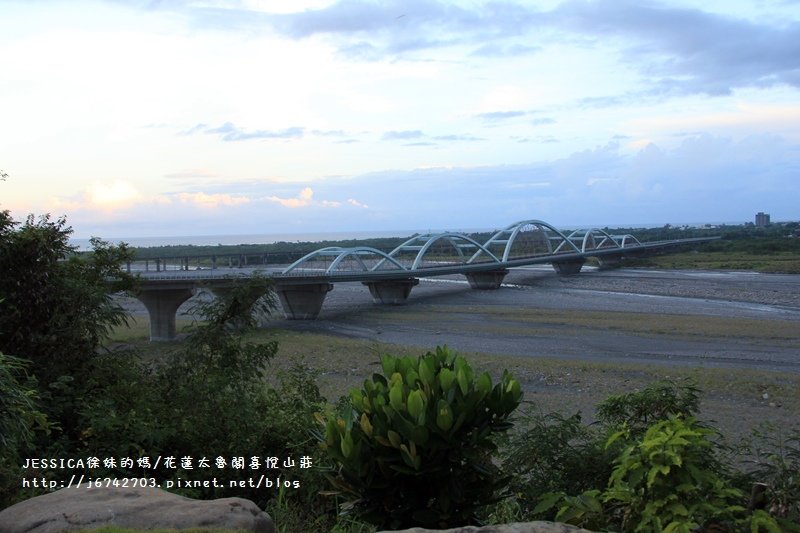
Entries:
[[350,498],[343,509],[395,529],[474,522],[507,483],[494,436],[511,427],[519,382],[506,371],[493,386],[447,347],[381,366],[318,435],[338,465],[333,486]]

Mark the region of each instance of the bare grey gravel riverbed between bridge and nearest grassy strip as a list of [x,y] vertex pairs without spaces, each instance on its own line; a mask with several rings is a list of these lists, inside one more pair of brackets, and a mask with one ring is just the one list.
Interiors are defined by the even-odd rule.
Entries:
[[800,276],[512,271],[496,291],[422,280],[406,305],[337,284],[316,321],[280,327],[461,351],[800,373]]

